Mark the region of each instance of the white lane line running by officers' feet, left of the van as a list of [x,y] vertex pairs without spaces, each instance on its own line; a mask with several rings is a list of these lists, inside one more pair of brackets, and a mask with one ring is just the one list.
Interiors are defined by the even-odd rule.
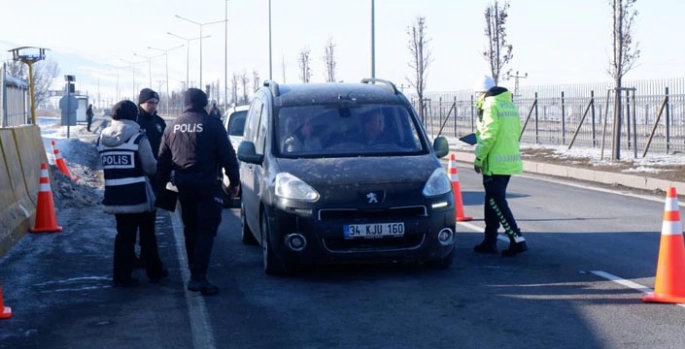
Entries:
[[193,294],[186,289],[186,282],[190,280],[188,261],[186,260],[185,242],[183,241],[183,224],[179,217],[180,212],[170,212],[171,226],[176,240],[176,254],[183,278],[183,290],[188,306],[188,317],[190,319],[190,331],[193,336],[193,348],[195,349],[216,349],[214,333],[209,321],[209,314],[205,306],[205,299],[199,293]]

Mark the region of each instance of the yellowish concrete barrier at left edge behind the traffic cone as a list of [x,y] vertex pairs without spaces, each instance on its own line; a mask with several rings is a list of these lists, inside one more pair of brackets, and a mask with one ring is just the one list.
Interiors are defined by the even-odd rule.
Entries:
[[0,129],[0,257],[35,223],[42,162],[38,126]]

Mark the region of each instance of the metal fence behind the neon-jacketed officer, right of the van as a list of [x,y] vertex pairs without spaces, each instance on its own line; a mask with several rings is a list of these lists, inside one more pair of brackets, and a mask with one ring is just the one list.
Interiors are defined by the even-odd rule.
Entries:
[[[639,156],[647,151],[685,152],[685,78],[625,81],[623,85],[633,90],[621,93],[621,149]],[[524,126],[521,142],[604,146],[611,152],[616,121],[616,93],[612,86],[598,83],[521,88],[514,98]],[[412,99],[418,108],[417,102]],[[431,134],[461,137],[475,132],[471,91],[429,93],[424,97],[424,108],[424,126]]]

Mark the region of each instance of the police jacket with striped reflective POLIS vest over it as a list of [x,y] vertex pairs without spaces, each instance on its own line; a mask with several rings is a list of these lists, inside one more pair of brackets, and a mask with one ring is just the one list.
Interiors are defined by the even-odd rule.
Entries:
[[112,120],[97,141],[105,172],[105,213],[141,213],[154,209],[155,196],[148,176],[157,162],[147,136],[133,120]]

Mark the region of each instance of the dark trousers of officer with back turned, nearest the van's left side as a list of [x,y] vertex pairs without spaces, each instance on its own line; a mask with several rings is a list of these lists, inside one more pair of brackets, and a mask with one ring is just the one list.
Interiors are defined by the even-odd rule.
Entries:
[[176,187],[190,277],[202,281],[207,278],[214,237],[221,224],[224,206],[221,187],[219,182],[207,181],[177,181]]

